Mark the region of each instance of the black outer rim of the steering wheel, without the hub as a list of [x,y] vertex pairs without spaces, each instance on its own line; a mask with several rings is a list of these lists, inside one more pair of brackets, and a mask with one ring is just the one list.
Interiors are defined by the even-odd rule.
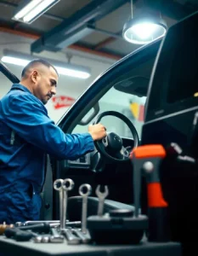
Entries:
[[[93,125],[99,124],[101,119],[103,119],[105,116],[114,116],[114,117],[117,117],[118,119],[122,119],[122,121],[128,126],[129,130],[132,132],[133,140],[134,140],[133,148],[137,148],[139,146],[139,134],[138,134],[137,130],[135,129],[135,126],[133,125],[131,120],[128,119],[122,113],[119,113],[119,112],[116,112],[116,111],[105,111],[103,113],[99,113],[99,115],[94,120]],[[129,159],[129,158],[128,159],[124,159],[124,160],[116,159],[115,157],[113,157],[110,154],[108,154],[105,151],[105,148],[103,147],[102,140],[95,141],[94,144],[95,144],[96,149],[99,151],[99,153],[105,155],[105,157],[107,157],[109,160],[123,162],[123,161],[126,161],[126,160]]]

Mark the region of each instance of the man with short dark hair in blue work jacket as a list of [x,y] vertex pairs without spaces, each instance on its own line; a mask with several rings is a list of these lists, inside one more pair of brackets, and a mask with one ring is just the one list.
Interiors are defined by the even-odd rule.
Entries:
[[44,104],[56,94],[58,78],[48,61],[31,61],[0,101],[0,223],[39,219],[46,154],[75,160],[106,136],[101,124],[71,135],[49,119]]

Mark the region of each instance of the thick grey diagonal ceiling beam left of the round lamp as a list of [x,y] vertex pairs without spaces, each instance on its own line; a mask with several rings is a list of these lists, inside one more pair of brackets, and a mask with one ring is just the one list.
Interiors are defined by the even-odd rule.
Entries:
[[[39,38],[36,42],[31,44],[31,51],[39,53],[45,49],[57,51],[64,49],[65,46],[68,47],[68,44],[71,42],[74,43],[74,40],[77,42],[83,38],[83,34],[80,32],[84,26],[88,25],[90,22],[102,19],[105,15],[108,15],[127,2],[128,0],[91,1],[74,15],[71,15],[67,20],[55,26],[51,31],[46,32],[42,38]],[[78,33],[78,36],[76,33]],[[85,31],[85,34],[86,33],[87,31]],[[73,38],[73,40],[71,40],[71,38]]]

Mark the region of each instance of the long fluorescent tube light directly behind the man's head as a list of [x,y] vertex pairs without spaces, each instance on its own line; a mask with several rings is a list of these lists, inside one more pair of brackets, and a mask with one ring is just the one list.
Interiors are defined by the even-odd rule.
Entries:
[[82,67],[62,61],[54,61],[41,56],[25,55],[13,50],[4,49],[2,60],[4,63],[14,64],[25,67],[30,61],[34,59],[43,59],[51,63],[59,74],[70,76],[78,79],[88,79],[91,75],[91,70],[88,67]]

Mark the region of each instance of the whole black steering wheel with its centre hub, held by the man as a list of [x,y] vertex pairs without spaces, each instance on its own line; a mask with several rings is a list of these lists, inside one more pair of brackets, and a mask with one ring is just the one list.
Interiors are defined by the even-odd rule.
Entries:
[[[139,135],[133,123],[127,119],[125,115],[116,111],[105,111],[103,113],[99,113],[96,117],[93,125],[99,124],[100,120],[105,116],[115,116],[118,119],[122,119],[122,121],[128,126],[129,130],[132,132],[134,147],[137,148],[139,146]],[[96,149],[100,154],[104,155],[107,159],[113,161],[127,161],[129,158],[129,152],[122,145],[122,138],[119,137],[115,132],[107,132],[107,136],[102,140],[94,142]]]

